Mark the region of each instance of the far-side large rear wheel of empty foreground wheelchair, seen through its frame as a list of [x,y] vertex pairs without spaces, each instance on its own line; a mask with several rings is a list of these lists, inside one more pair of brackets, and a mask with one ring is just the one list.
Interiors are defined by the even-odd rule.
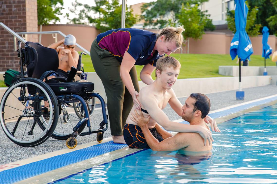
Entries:
[[[71,99],[72,101],[76,101],[76,99]],[[71,103],[70,103],[71,104]],[[57,118],[57,126],[52,133],[51,137],[58,140],[67,140],[72,137],[73,127],[81,120],[77,117],[72,110],[74,108],[68,102],[61,102],[61,111],[62,113],[58,115]],[[68,112],[69,111],[69,112]],[[44,122],[49,120],[49,117],[41,117],[38,121]],[[44,123],[42,129],[45,129],[47,123]],[[86,127],[86,123],[83,123],[78,130],[78,134],[81,133]]]

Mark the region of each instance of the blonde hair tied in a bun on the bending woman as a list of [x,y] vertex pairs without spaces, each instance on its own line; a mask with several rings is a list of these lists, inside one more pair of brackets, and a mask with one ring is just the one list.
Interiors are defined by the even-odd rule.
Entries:
[[184,31],[183,26],[178,26],[178,27],[166,27],[163,28],[160,33],[158,34],[158,38],[162,35],[165,36],[165,41],[174,41],[176,44],[176,47],[181,47],[183,42],[184,42],[184,36],[182,32]]

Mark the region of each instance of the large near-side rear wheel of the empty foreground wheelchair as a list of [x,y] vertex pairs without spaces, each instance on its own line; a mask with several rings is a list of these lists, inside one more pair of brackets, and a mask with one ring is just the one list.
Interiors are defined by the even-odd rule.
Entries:
[[[43,106],[45,102],[49,105]],[[57,125],[57,98],[47,84],[36,78],[23,78],[13,83],[4,93],[0,110],[5,134],[20,146],[42,144]],[[39,121],[43,116],[49,116],[48,120]]]

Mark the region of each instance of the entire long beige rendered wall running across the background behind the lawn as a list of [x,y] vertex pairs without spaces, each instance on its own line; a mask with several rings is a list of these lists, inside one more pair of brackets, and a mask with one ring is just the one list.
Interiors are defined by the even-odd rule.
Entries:
[[[64,34],[72,34],[76,37],[77,43],[90,51],[90,46],[96,36],[100,33],[93,26],[88,25],[68,25],[68,24],[53,24],[42,27],[42,31],[61,31]],[[149,30],[158,33],[159,30]],[[189,39],[189,53],[190,54],[229,54],[230,43],[233,36],[226,33],[206,32],[201,40]],[[63,39],[58,36],[58,40]],[[262,35],[250,37],[255,55],[262,54]],[[43,35],[42,44],[48,46],[54,43],[55,39],[52,35]],[[187,44],[183,48],[183,53],[187,52]],[[274,35],[268,37],[268,44],[271,46],[273,52],[277,48],[277,38]],[[76,48],[77,51],[81,51]],[[179,53],[179,51],[177,51]]]

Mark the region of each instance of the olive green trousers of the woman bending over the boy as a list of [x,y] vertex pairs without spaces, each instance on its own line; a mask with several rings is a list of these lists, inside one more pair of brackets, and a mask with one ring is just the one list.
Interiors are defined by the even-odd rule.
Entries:
[[[111,135],[123,135],[126,119],[134,105],[132,95],[119,75],[120,62],[109,51],[98,46],[96,39],[91,44],[91,61],[100,77],[107,95],[107,109],[111,126]],[[137,70],[130,70],[134,88],[139,92]]]

